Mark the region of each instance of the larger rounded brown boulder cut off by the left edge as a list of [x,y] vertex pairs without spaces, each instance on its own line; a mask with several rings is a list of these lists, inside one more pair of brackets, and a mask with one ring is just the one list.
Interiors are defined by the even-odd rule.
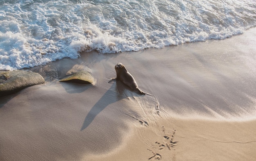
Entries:
[[26,87],[42,83],[45,80],[38,73],[23,70],[0,71],[0,96],[14,94]]

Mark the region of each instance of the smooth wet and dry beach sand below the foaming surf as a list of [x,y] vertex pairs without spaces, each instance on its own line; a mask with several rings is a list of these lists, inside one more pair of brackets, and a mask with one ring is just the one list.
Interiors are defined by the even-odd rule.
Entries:
[[[255,41],[252,28],[224,40],[83,52],[26,69],[47,83],[0,98],[0,160],[255,160]],[[119,62],[152,96],[108,83]],[[83,68],[94,85],[58,82]]]

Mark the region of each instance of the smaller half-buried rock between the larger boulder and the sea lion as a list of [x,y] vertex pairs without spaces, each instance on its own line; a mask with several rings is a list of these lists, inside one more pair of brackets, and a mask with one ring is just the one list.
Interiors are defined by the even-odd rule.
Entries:
[[67,75],[59,81],[80,83],[80,84],[91,84],[94,82],[94,78],[90,72],[81,70],[79,72],[75,72],[73,74]]

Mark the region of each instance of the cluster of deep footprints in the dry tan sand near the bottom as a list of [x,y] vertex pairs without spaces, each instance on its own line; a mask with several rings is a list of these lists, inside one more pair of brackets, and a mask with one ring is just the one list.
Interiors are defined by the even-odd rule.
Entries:
[[[156,144],[158,150],[163,150],[165,148],[168,148],[168,150],[175,150],[175,146],[178,143],[178,141],[173,141],[176,130],[173,129],[173,131],[171,131],[170,134],[166,134],[166,130],[165,130],[164,126],[162,126],[162,132],[164,134],[163,141],[162,142],[155,141],[155,144]],[[152,157],[148,158],[148,160],[162,159],[161,154],[155,153],[155,152],[153,152],[153,150],[150,150],[150,149],[148,149],[148,150],[154,154]],[[174,157],[175,157],[175,154],[174,154]]]

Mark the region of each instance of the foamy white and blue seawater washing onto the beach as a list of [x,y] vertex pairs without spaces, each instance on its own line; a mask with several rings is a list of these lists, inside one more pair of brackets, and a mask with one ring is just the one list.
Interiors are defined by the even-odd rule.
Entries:
[[0,70],[79,52],[225,39],[256,26],[255,0],[1,0]]

